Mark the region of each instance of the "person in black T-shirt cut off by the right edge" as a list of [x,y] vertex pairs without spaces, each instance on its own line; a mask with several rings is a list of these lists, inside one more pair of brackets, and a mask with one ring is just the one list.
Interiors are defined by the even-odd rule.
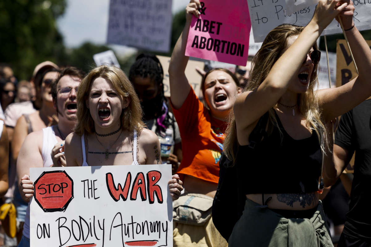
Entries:
[[[349,211],[338,246],[371,246],[371,100],[341,116],[335,134],[334,164],[340,176],[355,152]],[[333,178],[334,179],[334,178]]]

